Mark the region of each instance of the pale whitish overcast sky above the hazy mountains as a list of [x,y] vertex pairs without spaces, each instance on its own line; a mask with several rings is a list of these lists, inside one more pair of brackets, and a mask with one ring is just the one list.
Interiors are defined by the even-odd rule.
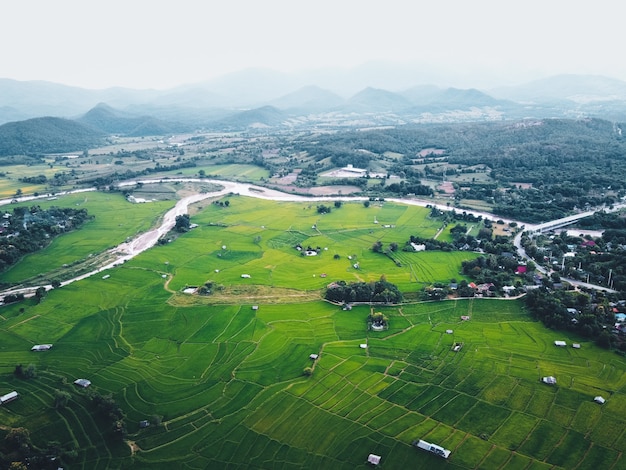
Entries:
[[385,61],[467,87],[626,80],[621,11],[617,0],[23,0],[2,7],[0,78],[166,89]]

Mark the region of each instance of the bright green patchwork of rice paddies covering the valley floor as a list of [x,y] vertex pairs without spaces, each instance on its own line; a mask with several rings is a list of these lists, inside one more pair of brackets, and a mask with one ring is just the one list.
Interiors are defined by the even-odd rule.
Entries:
[[[105,196],[90,193],[90,213],[117,238],[72,255],[81,238],[69,234],[4,275],[19,279],[55,257],[112,246],[167,206],[132,206],[146,212],[119,227],[116,211],[99,215]],[[197,228],[106,279],[0,309],[0,394],[20,395],[0,405],[0,438],[26,427],[37,445],[53,439],[73,449],[63,462],[70,469],[365,469],[370,453],[387,469],[626,467],[626,360],[546,329],[521,301],[378,306],[389,328],[375,332],[369,305],[346,311],[321,300],[333,280],[384,274],[408,293],[462,278],[460,263],[473,253],[397,252],[398,265],[371,251],[379,240],[402,246],[411,234],[434,236],[427,209],[344,203],[320,215],[316,203],[226,200],[200,203]],[[321,250],[303,256],[298,243]],[[182,293],[207,281],[234,294],[215,302]],[[272,297],[286,290],[318,300]],[[46,343],[54,346],[30,350]],[[17,364],[33,364],[36,377],[16,377]],[[548,375],[556,385],[540,381]],[[92,385],[76,387],[77,378]],[[58,391],[70,395],[64,407],[54,406]],[[123,411],[125,440],[91,402],[94,392]],[[413,447],[417,439],[451,450],[449,459]]]

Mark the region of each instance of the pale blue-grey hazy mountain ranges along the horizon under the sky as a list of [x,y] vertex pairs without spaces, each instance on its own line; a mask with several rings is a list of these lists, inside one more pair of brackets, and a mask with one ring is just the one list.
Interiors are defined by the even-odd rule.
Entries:
[[339,125],[585,116],[626,120],[626,82],[607,77],[558,75],[478,90],[424,83],[428,77],[420,74],[394,77],[393,72],[294,75],[248,69],[168,90],[89,90],[0,79],[0,124],[55,116],[107,134],[138,136],[197,128],[294,127],[329,119]]

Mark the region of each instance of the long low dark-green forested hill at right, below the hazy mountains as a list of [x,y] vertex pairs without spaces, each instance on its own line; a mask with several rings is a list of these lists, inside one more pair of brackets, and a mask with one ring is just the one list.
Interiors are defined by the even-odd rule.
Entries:
[[419,163],[421,150],[438,148],[449,164],[484,165],[504,182],[574,180],[621,187],[626,176],[624,131],[626,124],[601,119],[424,124],[315,135],[300,149],[320,161],[331,158],[336,166],[352,163],[361,168],[377,155],[394,152],[404,156],[395,171],[406,172]]

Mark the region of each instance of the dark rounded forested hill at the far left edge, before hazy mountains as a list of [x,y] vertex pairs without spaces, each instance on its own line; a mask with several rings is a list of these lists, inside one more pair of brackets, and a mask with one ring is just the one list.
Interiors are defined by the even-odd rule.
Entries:
[[78,152],[100,145],[101,131],[69,119],[42,117],[0,126],[0,156]]

